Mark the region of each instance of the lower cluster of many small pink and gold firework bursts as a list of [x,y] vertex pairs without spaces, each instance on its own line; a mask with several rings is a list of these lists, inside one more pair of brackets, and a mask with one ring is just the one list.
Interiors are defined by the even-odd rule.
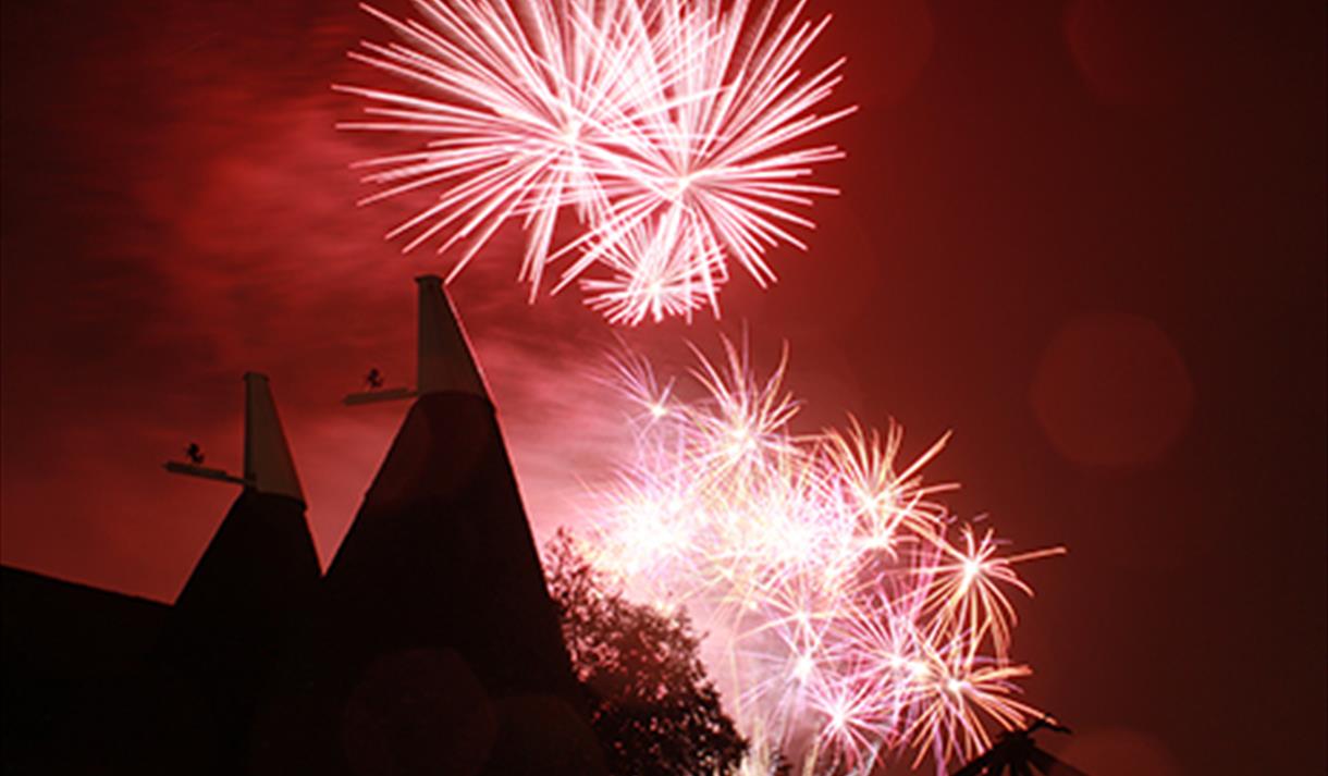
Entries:
[[1037,718],[1008,590],[1031,595],[1015,566],[1064,549],[1003,555],[948,514],[954,485],[922,477],[948,437],[902,462],[894,425],[794,435],[788,352],[764,379],[730,341],[717,363],[696,355],[685,383],[616,360],[636,456],[598,492],[584,550],[628,593],[716,626],[757,751],[866,773],[911,749],[943,772]]

